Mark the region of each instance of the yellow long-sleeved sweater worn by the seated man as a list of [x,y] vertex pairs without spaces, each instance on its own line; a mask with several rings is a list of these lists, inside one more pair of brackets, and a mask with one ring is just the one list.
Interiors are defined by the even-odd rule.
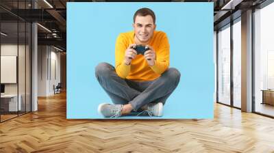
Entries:
[[115,68],[119,77],[134,81],[152,81],[169,68],[169,40],[166,33],[153,31],[151,39],[149,46],[152,46],[156,53],[155,65],[149,66],[143,55],[136,55],[136,58],[127,66],[123,62],[125,50],[129,44],[134,44],[134,31],[120,33],[115,45]]

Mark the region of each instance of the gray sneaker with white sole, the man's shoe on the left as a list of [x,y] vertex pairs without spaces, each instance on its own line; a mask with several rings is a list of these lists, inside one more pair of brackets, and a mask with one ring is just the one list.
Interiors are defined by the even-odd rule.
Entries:
[[98,106],[98,113],[104,117],[120,117],[122,115],[123,105],[111,105],[107,103]]

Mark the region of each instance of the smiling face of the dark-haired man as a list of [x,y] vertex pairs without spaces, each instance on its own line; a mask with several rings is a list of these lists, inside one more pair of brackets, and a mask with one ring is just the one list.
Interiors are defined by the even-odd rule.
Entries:
[[153,36],[156,25],[153,24],[153,18],[150,15],[136,16],[133,23],[134,33],[140,42],[149,42]]

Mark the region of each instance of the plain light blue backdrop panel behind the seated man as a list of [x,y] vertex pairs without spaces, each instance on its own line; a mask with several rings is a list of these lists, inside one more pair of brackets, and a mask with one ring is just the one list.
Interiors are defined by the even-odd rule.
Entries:
[[[99,119],[101,102],[112,103],[95,78],[95,66],[114,66],[119,33],[131,31],[134,12],[150,8],[156,30],[166,32],[170,67],[181,81],[157,119],[213,118],[213,3],[67,3],[67,118]],[[121,117],[144,118],[151,117]]]

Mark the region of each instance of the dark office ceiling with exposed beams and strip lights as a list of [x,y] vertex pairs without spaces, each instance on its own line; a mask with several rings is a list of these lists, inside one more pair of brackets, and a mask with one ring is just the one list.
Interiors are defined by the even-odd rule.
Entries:
[[[32,3],[33,1],[33,3]],[[12,34],[14,21],[17,19],[27,22],[38,22],[38,44],[47,44],[66,48],[66,2],[69,0],[27,0],[27,1],[0,1],[1,22],[5,29]],[[102,2],[103,0],[70,0],[71,2]],[[123,1],[123,0],[120,0]],[[132,0],[138,1],[138,0]],[[139,0],[145,1],[145,0]],[[153,0],[147,0],[153,1]],[[158,0],[166,1],[166,0]],[[227,24],[232,13],[246,10],[247,8],[259,5],[265,0],[171,0],[173,2],[214,2],[214,29]],[[229,2],[231,1],[231,2]],[[115,0],[105,0],[115,2]],[[124,1],[125,2],[125,1]],[[36,5],[36,9],[34,8]],[[234,16],[236,18],[237,15]],[[49,29],[50,32],[45,29]],[[2,28],[3,29],[3,28]],[[23,31],[23,29],[21,30]],[[20,32],[21,32],[20,31]],[[21,35],[19,32],[19,36]],[[14,33],[15,35],[16,33]]]

